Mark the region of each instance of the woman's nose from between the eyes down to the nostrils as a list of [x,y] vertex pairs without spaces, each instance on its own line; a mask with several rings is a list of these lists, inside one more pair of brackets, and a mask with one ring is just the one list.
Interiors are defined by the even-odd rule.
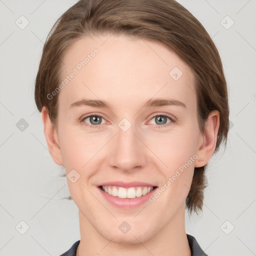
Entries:
[[[145,164],[146,155],[143,143],[138,139],[136,125],[123,118],[116,129],[116,136],[110,156],[110,165],[122,170]],[[135,135],[135,134],[136,135]],[[142,140],[142,139],[141,139]]]

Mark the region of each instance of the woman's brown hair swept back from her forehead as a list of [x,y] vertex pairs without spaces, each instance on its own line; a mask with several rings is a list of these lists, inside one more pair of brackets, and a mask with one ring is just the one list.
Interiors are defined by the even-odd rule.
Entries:
[[[56,129],[58,96],[48,99],[47,95],[60,82],[63,56],[75,40],[100,34],[144,38],[173,50],[195,75],[200,131],[204,132],[209,112],[218,110],[220,120],[214,153],[221,142],[226,146],[229,107],[220,56],[202,24],[175,0],[79,0],[57,19],[43,46],[34,92],[38,110],[46,106]],[[186,198],[189,214],[202,209],[206,165],[194,168]]]

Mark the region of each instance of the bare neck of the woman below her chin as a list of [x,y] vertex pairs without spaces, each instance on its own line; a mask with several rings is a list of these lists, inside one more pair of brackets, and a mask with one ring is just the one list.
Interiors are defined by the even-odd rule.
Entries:
[[[191,256],[189,243],[185,232],[185,208],[184,204],[179,208],[171,221],[158,233],[140,242],[142,239],[135,233],[136,241],[133,243],[116,243],[106,239],[97,231],[88,219],[79,210],[80,243],[76,256],[100,255],[100,256]],[[153,230],[152,230],[153,231]],[[103,233],[103,232],[102,232]]]

